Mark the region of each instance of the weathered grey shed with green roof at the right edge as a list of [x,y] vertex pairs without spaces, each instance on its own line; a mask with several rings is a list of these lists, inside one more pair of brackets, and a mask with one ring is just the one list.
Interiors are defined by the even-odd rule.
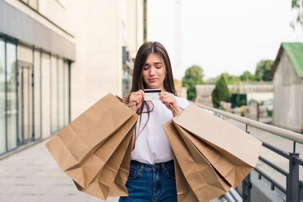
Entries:
[[282,43],[269,79],[274,85],[274,125],[303,132],[303,43]]

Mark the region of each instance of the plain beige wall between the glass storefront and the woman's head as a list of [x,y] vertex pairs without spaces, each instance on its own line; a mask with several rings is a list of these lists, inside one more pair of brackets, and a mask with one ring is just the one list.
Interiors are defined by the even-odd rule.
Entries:
[[135,57],[143,42],[142,34],[136,43],[143,29],[143,20],[136,19],[143,16],[143,1],[69,1],[67,10],[76,44],[71,65],[73,120],[108,93],[122,96],[122,47]]

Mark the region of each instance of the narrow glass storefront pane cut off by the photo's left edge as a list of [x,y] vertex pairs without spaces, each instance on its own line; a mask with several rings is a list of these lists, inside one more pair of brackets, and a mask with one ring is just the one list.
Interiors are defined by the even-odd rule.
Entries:
[[0,40],[0,154],[6,151],[5,42]]

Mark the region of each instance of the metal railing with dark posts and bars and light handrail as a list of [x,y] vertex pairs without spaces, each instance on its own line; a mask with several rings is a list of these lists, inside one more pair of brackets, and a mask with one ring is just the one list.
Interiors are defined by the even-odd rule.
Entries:
[[[194,102],[193,102],[194,103]],[[280,168],[279,166],[275,165],[274,163],[268,161],[267,159],[259,156],[259,160],[270,166],[271,168],[275,169],[279,173],[283,174],[286,177],[286,188],[284,188],[281,184],[271,178],[268,174],[261,171],[258,167],[254,168],[254,171],[258,173],[258,179],[262,177],[265,178],[267,181],[271,183],[271,190],[274,190],[275,187],[280,190],[282,193],[286,195],[286,202],[303,202],[303,181],[299,181],[299,165],[303,166],[303,159],[299,158],[299,153],[295,152],[296,142],[303,144],[303,135],[292,132],[289,130],[281,129],[276,126],[268,125],[262,122],[258,122],[255,120],[251,120],[242,116],[238,116],[232,114],[230,112],[225,112],[220,109],[215,109],[201,103],[194,103],[195,105],[203,108],[211,110],[215,113],[222,114],[228,118],[237,120],[239,122],[246,124],[246,131],[247,126],[250,125],[252,127],[261,129],[263,131],[270,132],[272,134],[278,135],[280,137],[286,138],[294,142],[293,152],[286,152],[279,148],[276,148],[266,142],[263,142],[262,146],[268,148],[269,150],[277,153],[278,155],[287,158],[289,161],[289,172],[285,171],[284,169]],[[251,201],[251,174],[242,181],[242,192],[240,192],[237,188],[233,189],[224,194],[223,197],[229,202],[250,202]]]

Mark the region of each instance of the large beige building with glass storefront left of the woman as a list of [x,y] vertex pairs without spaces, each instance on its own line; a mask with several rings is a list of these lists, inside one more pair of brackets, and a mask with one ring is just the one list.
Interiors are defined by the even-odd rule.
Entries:
[[129,91],[146,38],[144,6],[0,0],[0,155],[58,133],[108,93]]

